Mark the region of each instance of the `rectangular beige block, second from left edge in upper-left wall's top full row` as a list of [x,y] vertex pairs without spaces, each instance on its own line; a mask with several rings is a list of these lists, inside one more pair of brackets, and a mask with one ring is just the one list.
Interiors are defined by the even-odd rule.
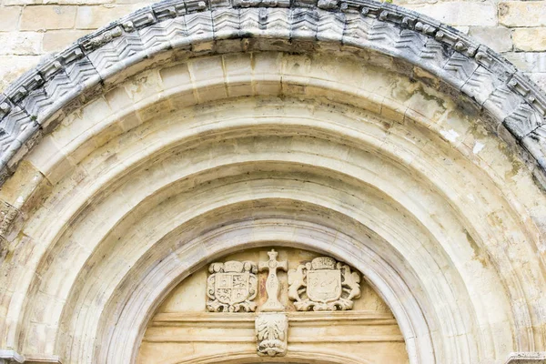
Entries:
[[76,6],[27,6],[21,16],[21,30],[69,29],[74,27]]

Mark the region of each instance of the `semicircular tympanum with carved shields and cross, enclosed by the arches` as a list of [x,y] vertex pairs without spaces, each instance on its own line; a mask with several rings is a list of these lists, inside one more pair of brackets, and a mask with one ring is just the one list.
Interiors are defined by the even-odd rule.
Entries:
[[[291,362],[302,352],[309,354],[308,361],[322,362],[317,357],[322,352],[358,358],[356,362],[408,363],[389,307],[359,273],[345,266],[287,247],[248,248],[207,264],[185,278],[157,309],[136,363],[200,358],[238,363],[241,355],[252,362]],[[300,301],[326,308],[298,309],[294,291]],[[327,309],[342,298],[353,302],[352,308]]]

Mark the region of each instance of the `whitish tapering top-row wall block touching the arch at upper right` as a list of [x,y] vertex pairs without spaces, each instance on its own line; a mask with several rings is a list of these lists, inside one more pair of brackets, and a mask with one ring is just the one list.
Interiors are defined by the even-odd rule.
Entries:
[[491,3],[438,2],[405,6],[448,25],[497,25],[497,9]]

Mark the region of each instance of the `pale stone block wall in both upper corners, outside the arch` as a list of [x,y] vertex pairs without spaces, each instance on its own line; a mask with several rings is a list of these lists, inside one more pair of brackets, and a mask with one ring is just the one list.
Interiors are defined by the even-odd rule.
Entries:
[[[2,0],[0,90],[41,56],[157,0]],[[546,1],[392,0],[501,52],[546,88]]]

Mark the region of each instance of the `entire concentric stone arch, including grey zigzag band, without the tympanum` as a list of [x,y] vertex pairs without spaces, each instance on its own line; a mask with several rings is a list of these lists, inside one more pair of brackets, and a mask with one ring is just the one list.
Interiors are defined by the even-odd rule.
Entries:
[[[419,92],[400,95],[404,87]],[[255,239],[271,233],[262,220],[301,216],[299,228],[316,224],[335,231],[330,239],[351,232],[330,242],[339,257],[349,258],[344,247],[373,247],[378,258],[368,264],[383,270],[359,268],[393,308],[411,362],[490,362],[543,349],[543,100],[487,47],[388,4],[143,9],[5,93],[5,178],[15,171],[2,192],[15,220],[5,238],[21,250],[5,265],[15,268],[5,276],[2,345],[66,362],[130,361],[168,288],[214,256],[198,240],[214,231],[211,221],[235,228],[255,217],[255,236],[237,248],[265,241]],[[457,138],[472,128],[490,156],[475,157],[486,144],[472,133],[474,143]],[[324,194],[305,194],[302,183]],[[200,193],[195,216],[169,202],[188,191]],[[126,202],[116,206],[119,193]],[[160,208],[176,218],[139,231],[136,222],[157,219]],[[195,257],[177,255],[181,236],[195,242]],[[144,284],[157,277],[170,280]],[[156,290],[135,296],[131,282]],[[127,329],[135,319],[138,328]],[[41,342],[42,329],[55,339]]]

